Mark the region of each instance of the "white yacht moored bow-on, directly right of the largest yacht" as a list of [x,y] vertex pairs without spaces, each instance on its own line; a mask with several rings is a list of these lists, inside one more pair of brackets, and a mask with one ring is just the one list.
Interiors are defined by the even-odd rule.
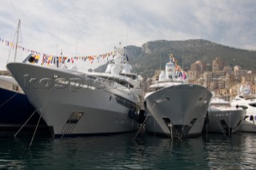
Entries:
[[177,138],[199,136],[212,93],[202,85],[189,85],[179,80],[175,69],[177,63],[170,58],[166,73],[162,71],[145,95],[146,119],[149,119],[145,130]]

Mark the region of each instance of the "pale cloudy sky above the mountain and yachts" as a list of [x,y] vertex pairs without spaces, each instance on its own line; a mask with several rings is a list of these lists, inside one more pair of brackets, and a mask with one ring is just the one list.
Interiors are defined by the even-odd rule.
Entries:
[[[0,0],[0,38],[49,55],[90,56],[156,40],[256,50],[254,0]],[[0,69],[14,50],[0,42]],[[29,53],[19,52],[20,61]],[[102,63],[100,63],[102,64]],[[87,68],[95,68],[89,62]]]

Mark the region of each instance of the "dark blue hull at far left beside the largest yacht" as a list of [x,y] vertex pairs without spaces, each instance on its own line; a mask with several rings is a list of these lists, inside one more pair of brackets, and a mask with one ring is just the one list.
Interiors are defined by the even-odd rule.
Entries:
[[[7,101],[7,102],[6,102]],[[6,102],[6,103],[5,103]],[[15,93],[0,88],[0,128],[20,128],[34,113],[34,107],[30,105],[25,94]],[[35,127],[38,124],[39,114],[34,113],[26,128]],[[40,126],[47,127],[41,119]]]

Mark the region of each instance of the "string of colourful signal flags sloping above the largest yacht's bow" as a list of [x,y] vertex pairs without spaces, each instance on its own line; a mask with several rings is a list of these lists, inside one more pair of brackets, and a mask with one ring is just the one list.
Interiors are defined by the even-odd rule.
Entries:
[[98,55],[90,55],[90,56],[74,56],[74,57],[67,57],[67,56],[56,56],[56,55],[49,55],[46,53],[40,53],[38,51],[32,50],[32,49],[27,49],[26,47],[23,47],[21,45],[14,44],[13,42],[4,40],[0,38],[0,43],[2,45],[6,45],[9,48],[12,49],[21,49],[22,51],[26,53],[32,53],[34,57],[33,63],[38,63],[40,61],[40,58],[42,58],[42,63],[41,64],[55,64],[55,62],[58,63],[74,63],[74,61],[89,61],[90,64],[93,64],[94,62],[99,62],[102,59],[105,59],[108,61],[109,58],[112,59],[115,57],[115,52],[111,51],[109,53],[102,53]]

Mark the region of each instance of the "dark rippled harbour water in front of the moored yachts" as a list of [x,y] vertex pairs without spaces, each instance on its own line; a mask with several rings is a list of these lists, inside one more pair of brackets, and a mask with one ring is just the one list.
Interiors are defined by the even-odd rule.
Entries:
[[52,140],[38,132],[0,133],[3,169],[256,169],[256,134],[170,140],[135,132]]

